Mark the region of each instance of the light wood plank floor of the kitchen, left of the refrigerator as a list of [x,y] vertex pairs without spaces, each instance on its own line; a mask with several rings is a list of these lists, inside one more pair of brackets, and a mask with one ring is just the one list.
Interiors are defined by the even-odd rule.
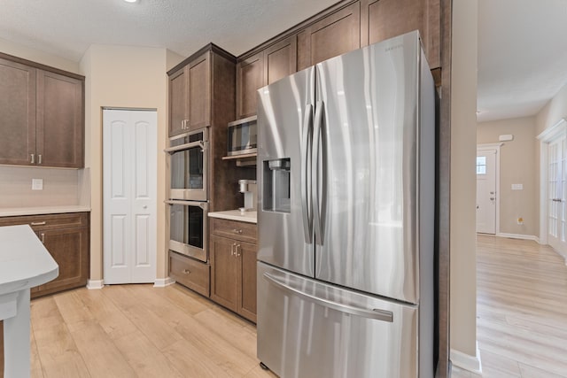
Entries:
[[32,377],[274,377],[256,328],[181,286],[113,285],[32,301]]

